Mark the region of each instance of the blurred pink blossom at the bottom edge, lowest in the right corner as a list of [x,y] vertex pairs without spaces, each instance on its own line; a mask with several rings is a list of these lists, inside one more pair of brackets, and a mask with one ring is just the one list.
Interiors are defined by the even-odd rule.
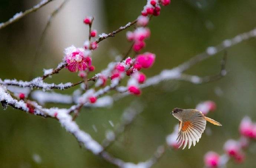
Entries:
[[204,155],[204,163],[209,168],[218,167],[220,164],[220,155],[216,152],[209,151]]

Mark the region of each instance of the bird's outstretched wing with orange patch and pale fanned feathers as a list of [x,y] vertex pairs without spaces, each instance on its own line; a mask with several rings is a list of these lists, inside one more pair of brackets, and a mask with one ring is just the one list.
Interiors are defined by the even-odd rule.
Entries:
[[201,138],[202,133],[206,127],[206,120],[204,115],[198,111],[187,121],[180,122],[179,124],[179,133],[177,138],[177,143],[180,144],[179,148],[183,145],[183,148],[186,148],[188,144],[188,149],[193,145],[196,145],[196,142]]

